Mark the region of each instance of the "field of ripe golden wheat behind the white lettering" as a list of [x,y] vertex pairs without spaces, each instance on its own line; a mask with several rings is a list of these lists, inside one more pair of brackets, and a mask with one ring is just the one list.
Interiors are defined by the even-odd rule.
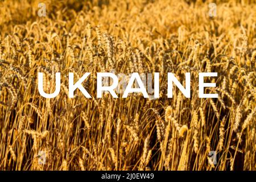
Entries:
[[[1,1],[0,169],[255,170],[256,2],[214,2],[210,17],[210,1]],[[160,98],[97,98],[113,69],[159,72]],[[61,72],[57,97],[38,72],[47,93]],[[68,98],[69,72],[91,72],[92,98]],[[191,73],[191,98],[167,98],[167,72]],[[198,97],[199,72],[218,98]]]

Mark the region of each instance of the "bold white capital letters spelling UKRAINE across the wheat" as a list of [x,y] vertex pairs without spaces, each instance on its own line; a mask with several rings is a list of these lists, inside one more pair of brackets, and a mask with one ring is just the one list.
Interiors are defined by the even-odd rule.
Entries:
[[[76,89],[79,89],[82,94],[86,98],[92,98],[90,94],[86,91],[84,86],[82,86],[82,82],[90,75],[89,72],[86,72],[75,84],[74,84],[74,75],[73,73],[69,73],[69,92],[68,97],[73,98],[74,92]],[[217,98],[218,94],[206,94],[204,93],[205,87],[216,87],[216,83],[212,82],[204,82],[204,77],[216,77],[217,72],[202,72],[199,73],[199,98]],[[41,96],[45,98],[54,98],[60,93],[60,72],[55,73],[56,77],[56,87],[53,93],[46,93],[43,89],[43,73],[38,73],[38,90]],[[102,81],[102,78],[112,78],[112,84],[106,86]],[[167,73],[167,97],[172,98],[172,87],[173,83],[179,88],[181,93],[184,94],[185,97],[191,97],[191,86],[190,86],[190,73],[185,73],[185,88],[179,80],[174,76],[173,73]],[[115,90],[118,87],[118,76],[114,73],[109,72],[100,72],[97,73],[97,98],[102,97],[102,93],[109,92],[112,97],[118,98],[117,93]],[[134,84],[137,84],[136,88],[134,88]],[[142,93],[144,98],[149,98],[147,90],[144,86],[144,82],[142,81],[141,76],[139,73],[134,72],[131,73],[129,76],[128,84],[125,86],[124,92],[122,94],[122,98],[127,98],[130,93]],[[154,98],[159,98],[159,73],[154,73]]]

